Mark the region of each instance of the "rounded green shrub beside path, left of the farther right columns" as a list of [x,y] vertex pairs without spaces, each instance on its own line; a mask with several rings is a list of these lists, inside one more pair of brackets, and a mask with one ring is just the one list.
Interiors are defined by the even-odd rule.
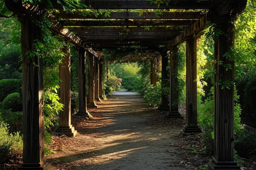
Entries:
[[161,104],[161,83],[157,82],[157,85],[147,84],[144,90],[144,99],[148,101],[148,105],[152,107],[158,107]]

